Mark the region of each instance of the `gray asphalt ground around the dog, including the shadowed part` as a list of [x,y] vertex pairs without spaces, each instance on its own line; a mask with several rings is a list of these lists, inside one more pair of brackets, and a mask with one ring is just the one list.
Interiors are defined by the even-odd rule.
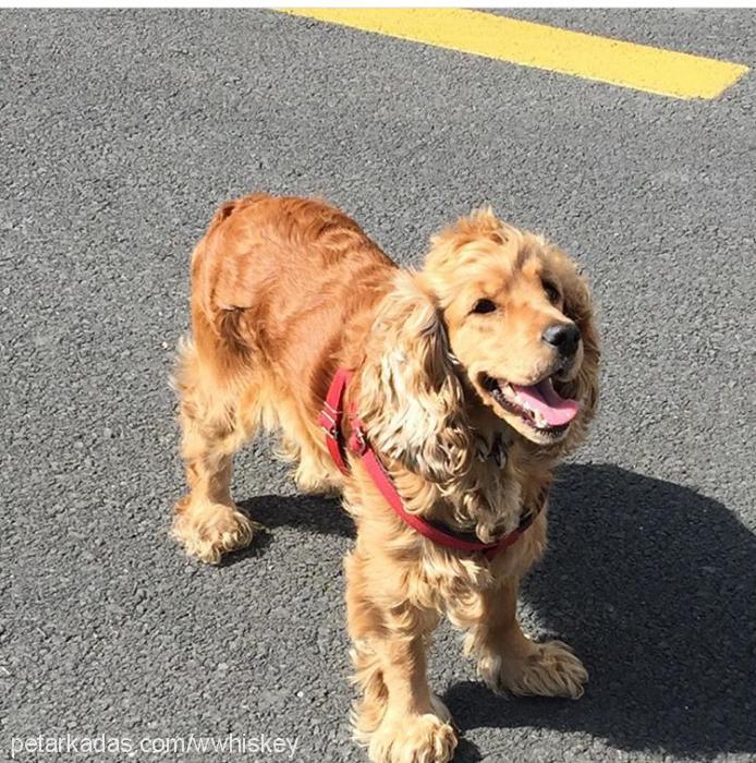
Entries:
[[[756,64],[753,11],[511,14]],[[327,196],[403,263],[490,201],[590,274],[602,410],[523,616],[592,682],[496,698],[441,629],[458,760],[754,760],[755,83],[686,102],[272,12],[3,11],[0,756],[265,732],[364,760],[337,506],[257,443],[234,492],[265,537],[218,569],[167,537],[188,253],[263,189]],[[171,758],[56,760],[84,759]]]

